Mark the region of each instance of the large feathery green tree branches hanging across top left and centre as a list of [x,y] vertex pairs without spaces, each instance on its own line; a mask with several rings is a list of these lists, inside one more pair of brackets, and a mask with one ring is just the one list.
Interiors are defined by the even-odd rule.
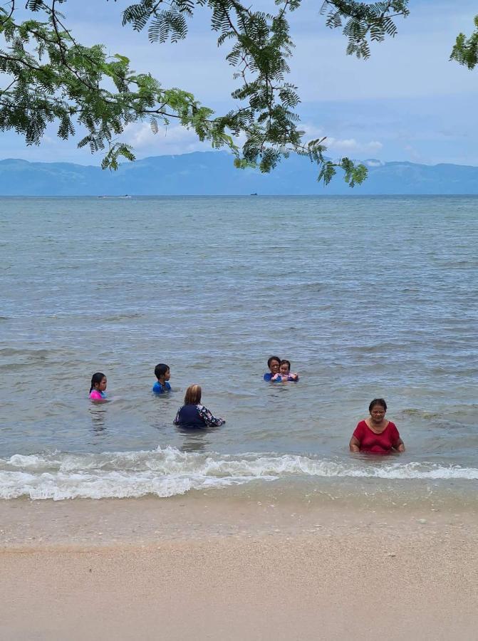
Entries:
[[[368,58],[370,41],[395,36],[394,20],[407,16],[407,3],[325,0],[321,14],[329,27],[342,28],[348,54]],[[271,13],[239,0],[140,0],[123,11],[123,26],[147,29],[151,42],[162,43],[187,36],[197,7],[209,10],[212,31],[219,46],[227,46],[225,57],[238,83],[232,93],[237,106],[219,116],[192,93],[164,88],[150,73],[136,73],[120,53],[107,56],[101,44],[79,43],[59,11],[66,4],[27,0],[21,6],[28,14],[23,21],[16,0],[0,7],[0,130],[14,130],[31,145],[41,142],[48,123],[58,125],[63,139],[79,127],[85,135],[78,145],[103,152],[102,166],[115,169],[120,157],[134,160],[121,140],[127,125],[147,121],[157,132],[177,122],[213,147],[229,147],[238,167],[256,165],[268,172],[296,152],[317,163],[318,179],[326,183],[337,167],[351,186],[365,179],[363,165],[326,159],[326,138],[303,140],[295,111],[299,96],[287,80],[294,46],[287,17],[301,0],[275,0]],[[234,142],[239,136],[241,147]]]

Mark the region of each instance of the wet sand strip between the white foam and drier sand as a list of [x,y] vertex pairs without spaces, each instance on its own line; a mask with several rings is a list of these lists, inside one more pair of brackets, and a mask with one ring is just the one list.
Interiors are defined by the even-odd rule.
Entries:
[[[478,510],[467,494],[412,484],[380,492],[380,479],[360,494],[345,485],[256,483],[160,499],[26,498],[0,501],[0,551],[150,546],[156,541],[262,536],[363,535],[478,537]],[[407,491],[404,488],[407,487]],[[319,489],[320,488],[320,489]]]

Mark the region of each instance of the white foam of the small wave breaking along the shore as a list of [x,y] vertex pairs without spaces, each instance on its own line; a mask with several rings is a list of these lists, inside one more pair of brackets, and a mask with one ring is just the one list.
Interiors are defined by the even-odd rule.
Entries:
[[285,476],[477,480],[478,469],[425,462],[339,462],[291,454],[198,454],[174,447],[149,452],[15,454],[0,459],[0,498],[166,497]]

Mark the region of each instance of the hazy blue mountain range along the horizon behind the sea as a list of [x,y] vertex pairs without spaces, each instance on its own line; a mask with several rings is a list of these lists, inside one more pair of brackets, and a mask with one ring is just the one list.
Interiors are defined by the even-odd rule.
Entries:
[[368,179],[350,189],[341,176],[328,187],[317,168],[291,156],[270,174],[237,170],[226,152],[155,156],[117,172],[68,162],[0,161],[0,196],[478,194],[478,167],[366,160]]

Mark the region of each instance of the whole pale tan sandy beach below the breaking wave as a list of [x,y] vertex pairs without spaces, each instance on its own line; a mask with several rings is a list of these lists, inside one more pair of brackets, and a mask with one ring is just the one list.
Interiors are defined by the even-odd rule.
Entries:
[[433,510],[3,501],[1,637],[470,640],[478,518]]

